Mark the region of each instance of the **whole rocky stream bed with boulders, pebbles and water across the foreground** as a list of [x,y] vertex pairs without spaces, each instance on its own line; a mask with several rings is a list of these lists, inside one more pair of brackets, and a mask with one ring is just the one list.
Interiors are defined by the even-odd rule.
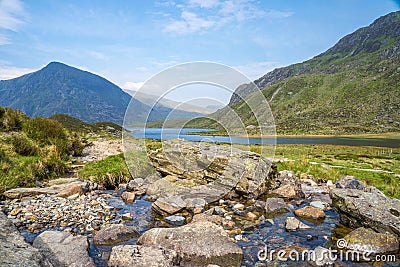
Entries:
[[[176,148],[172,144],[169,153]],[[337,249],[338,240],[344,240],[342,249],[393,255],[394,262],[378,266],[399,266],[399,200],[355,177],[335,184],[299,179],[251,152],[228,154],[188,142],[179,149],[197,164],[189,166],[196,172],[182,172],[183,161],[176,168],[164,151],[150,155],[160,174],[135,177],[115,191],[70,178],[6,192],[0,265],[372,265],[330,262],[326,249]],[[228,158],[235,164],[227,164]],[[209,167],[200,168],[205,161]],[[272,250],[286,253],[263,257]],[[307,250],[317,257],[289,258],[290,251]]]

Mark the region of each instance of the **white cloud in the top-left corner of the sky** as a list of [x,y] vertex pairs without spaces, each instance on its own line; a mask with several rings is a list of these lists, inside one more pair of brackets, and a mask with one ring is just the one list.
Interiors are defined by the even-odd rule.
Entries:
[[[19,0],[0,0],[0,30],[16,32],[24,23],[24,13]],[[0,45],[9,43],[9,38],[4,33],[0,33]]]

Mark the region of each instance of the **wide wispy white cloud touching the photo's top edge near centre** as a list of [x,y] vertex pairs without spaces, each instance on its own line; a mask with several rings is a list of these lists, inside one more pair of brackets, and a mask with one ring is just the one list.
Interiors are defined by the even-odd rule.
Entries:
[[[232,22],[258,18],[287,18],[293,12],[262,9],[254,0],[186,0],[184,4],[170,3],[169,7],[181,10],[180,18],[171,19],[165,32],[190,34]],[[173,17],[168,14],[168,17]]]

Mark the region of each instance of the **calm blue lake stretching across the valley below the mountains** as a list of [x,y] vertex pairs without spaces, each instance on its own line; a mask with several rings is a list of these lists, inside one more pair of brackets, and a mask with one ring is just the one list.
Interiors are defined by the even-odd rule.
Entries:
[[188,134],[190,132],[210,132],[207,129],[195,128],[130,128],[135,138],[147,138],[156,140],[170,140],[181,138],[188,141],[221,142],[234,144],[328,144],[345,146],[377,146],[399,148],[399,139],[378,138],[352,138],[352,137],[278,137],[273,138],[245,138],[229,136],[208,136],[201,134]]

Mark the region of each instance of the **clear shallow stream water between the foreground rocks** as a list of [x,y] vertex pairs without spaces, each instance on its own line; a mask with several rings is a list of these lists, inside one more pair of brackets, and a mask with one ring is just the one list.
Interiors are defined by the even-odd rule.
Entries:
[[[131,213],[133,220],[130,222],[125,222],[126,225],[135,226],[137,231],[140,234],[143,234],[145,231],[152,227],[157,227],[159,225],[159,217],[151,210],[151,202],[145,200],[145,197],[136,199],[134,203],[126,204],[122,201],[122,199],[113,194],[112,198],[108,199],[107,202],[110,206],[118,209],[117,211],[117,220],[124,213]],[[307,201],[303,201],[300,205],[297,205],[296,201],[289,202],[293,205],[294,209],[298,209],[300,207],[308,205]],[[257,224],[252,227],[251,230],[242,232],[242,240],[237,241],[237,244],[242,248],[244,252],[244,260],[242,262],[242,266],[250,267],[250,266],[310,266],[308,263],[304,261],[279,261],[274,262],[276,265],[271,265],[258,258],[258,252],[260,250],[267,251],[276,250],[279,251],[281,249],[287,248],[288,246],[294,246],[293,249],[298,251],[301,254],[301,249],[297,249],[298,247],[302,247],[303,249],[312,250],[318,246],[323,247],[334,247],[334,242],[331,240],[336,240],[338,238],[342,238],[345,234],[347,234],[351,229],[344,227],[340,224],[339,214],[334,210],[325,211],[325,220],[321,223],[311,223],[307,220],[299,219],[303,223],[311,226],[311,229],[308,230],[300,230],[297,232],[287,232],[285,230],[285,220],[287,217],[295,217],[293,212],[288,212],[284,214],[280,214],[272,218],[273,224],[267,220],[264,220],[262,223]],[[241,225],[243,222],[239,216],[234,216],[233,219],[236,221],[237,226]],[[45,229],[50,230],[50,229]],[[44,230],[44,231],[45,231]],[[54,229],[53,230],[62,230]],[[25,240],[29,243],[33,242],[33,239],[39,234],[31,234],[28,231],[21,231],[22,235],[25,237]],[[212,237],[210,237],[212,238]],[[105,267],[107,266],[108,257],[110,255],[112,246],[101,246],[97,247],[93,244],[93,234],[88,235],[90,249],[89,255],[93,258],[96,266]],[[126,242],[121,244],[136,244],[137,238],[132,238]],[[291,250],[291,249],[289,249]],[[399,256],[397,256],[399,260]],[[274,264],[272,263],[272,264]],[[368,263],[352,263],[346,262],[347,265],[343,266],[371,266]],[[386,263],[378,266],[399,266],[399,261],[396,263]]]

